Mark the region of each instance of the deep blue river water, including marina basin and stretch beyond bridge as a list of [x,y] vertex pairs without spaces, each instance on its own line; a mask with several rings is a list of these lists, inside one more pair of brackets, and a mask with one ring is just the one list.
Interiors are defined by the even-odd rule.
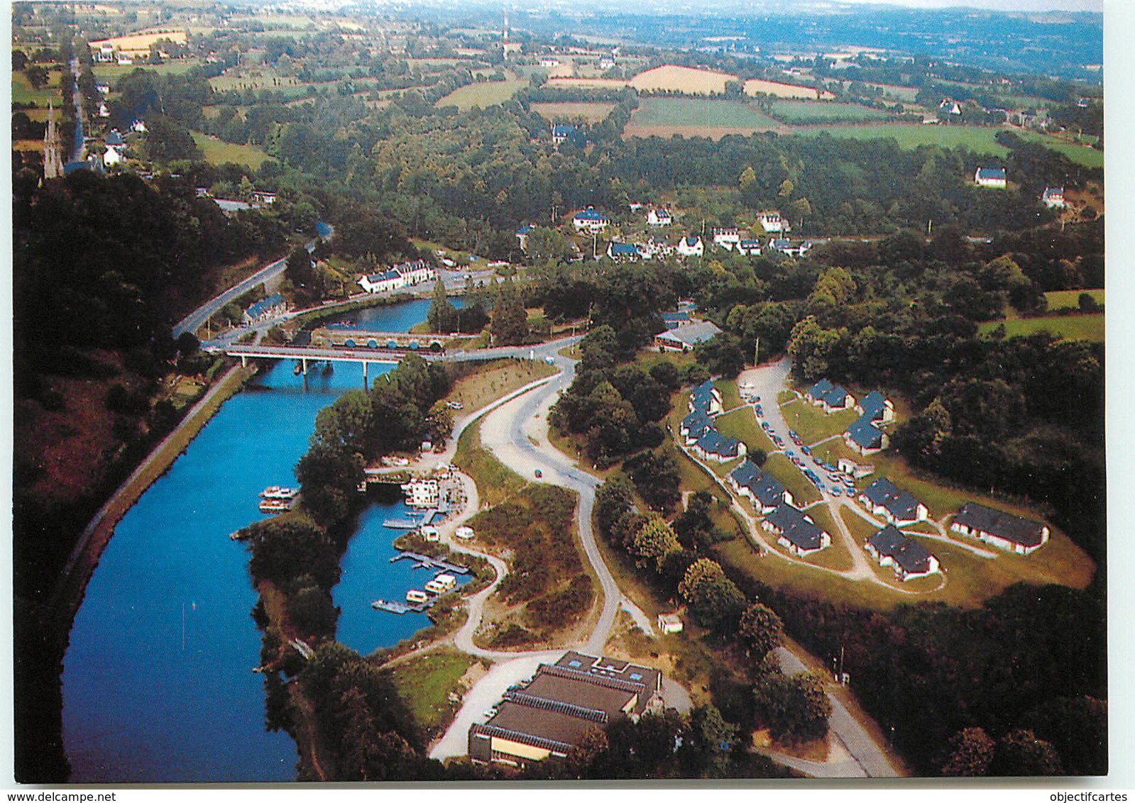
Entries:
[[[365,312],[384,331],[424,318],[428,302]],[[362,323],[360,322],[360,326]],[[274,365],[230,398],[123,517],[87,584],[64,659],[64,745],[75,783],[270,783],[295,777],[285,733],[263,727],[260,633],[247,552],[228,534],[263,518],[266,485],[294,484],[316,414],[360,387],[361,370],[321,365],[306,379]],[[371,366],[379,373],[390,366]],[[360,652],[428,624],[370,608],[429,577],[390,564],[382,526],[401,502],[360,517],[334,589],[338,637]]]

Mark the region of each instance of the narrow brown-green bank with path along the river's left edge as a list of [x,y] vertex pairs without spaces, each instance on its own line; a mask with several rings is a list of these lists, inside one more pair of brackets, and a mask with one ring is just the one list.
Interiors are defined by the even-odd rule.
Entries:
[[83,602],[86,584],[91,580],[99,558],[110,542],[115,525],[138,500],[138,497],[173,465],[201,429],[220,409],[230,396],[255,374],[255,366],[234,365],[195,405],[185,417],[155,446],[131,475],[99,509],[79,535],[72,556],[64,567],[59,582],[47,609],[48,622],[43,623],[50,642],[62,654],[67,646],[72,622]]

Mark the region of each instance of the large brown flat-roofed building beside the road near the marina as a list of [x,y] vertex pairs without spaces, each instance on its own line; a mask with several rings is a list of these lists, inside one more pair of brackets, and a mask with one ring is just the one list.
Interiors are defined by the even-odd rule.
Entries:
[[658,707],[661,692],[657,669],[570,650],[469,728],[469,758],[513,767],[564,758],[590,730]]

